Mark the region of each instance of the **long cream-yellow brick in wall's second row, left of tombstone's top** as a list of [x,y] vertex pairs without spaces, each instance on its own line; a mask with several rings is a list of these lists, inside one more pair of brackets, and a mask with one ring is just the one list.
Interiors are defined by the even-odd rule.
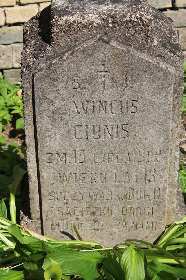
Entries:
[[5,8],[6,23],[25,22],[39,11],[37,4]]

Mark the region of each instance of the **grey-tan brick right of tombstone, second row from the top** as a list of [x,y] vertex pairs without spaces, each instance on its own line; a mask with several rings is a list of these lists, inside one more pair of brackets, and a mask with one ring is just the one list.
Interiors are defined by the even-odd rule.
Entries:
[[180,9],[178,11],[167,10],[163,12],[166,16],[171,17],[175,27],[186,26],[186,10]]

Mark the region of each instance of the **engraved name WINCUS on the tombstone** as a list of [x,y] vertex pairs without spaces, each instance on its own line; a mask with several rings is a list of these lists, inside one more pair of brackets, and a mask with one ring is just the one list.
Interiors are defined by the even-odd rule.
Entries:
[[81,100],[72,101],[72,111],[78,115],[125,115],[138,112],[138,100]]

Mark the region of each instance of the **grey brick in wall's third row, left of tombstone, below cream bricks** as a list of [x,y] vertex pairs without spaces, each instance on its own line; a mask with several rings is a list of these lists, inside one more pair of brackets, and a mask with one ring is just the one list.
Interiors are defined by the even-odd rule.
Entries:
[[23,42],[23,27],[11,26],[3,27],[0,31],[0,44],[8,45]]

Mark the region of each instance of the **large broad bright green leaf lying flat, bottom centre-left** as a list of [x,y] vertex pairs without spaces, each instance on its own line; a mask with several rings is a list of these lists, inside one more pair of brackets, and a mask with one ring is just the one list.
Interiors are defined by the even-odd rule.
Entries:
[[84,280],[98,278],[97,264],[101,263],[103,256],[97,252],[72,252],[55,249],[47,258],[55,260],[61,267],[64,274],[80,275]]

